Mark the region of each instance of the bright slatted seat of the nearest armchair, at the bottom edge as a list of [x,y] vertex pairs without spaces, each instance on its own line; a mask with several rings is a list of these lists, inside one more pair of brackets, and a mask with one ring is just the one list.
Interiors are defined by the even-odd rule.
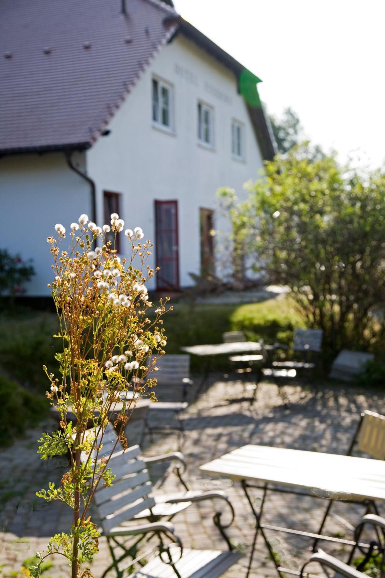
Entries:
[[[178,554],[175,555],[177,557]],[[230,551],[183,549],[182,558],[176,562],[175,568],[182,578],[219,578],[240,557],[242,554]],[[175,578],[175,572],[156,557],[135,572],[132,578]]]

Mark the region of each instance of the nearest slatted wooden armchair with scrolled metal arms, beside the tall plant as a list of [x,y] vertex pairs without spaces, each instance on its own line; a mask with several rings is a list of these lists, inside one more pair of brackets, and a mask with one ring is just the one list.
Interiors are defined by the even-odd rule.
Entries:
[[[87,435],[93,436],[94,430]],[[119,447],[116,442],[116,433],[109,428],[106,437],[103,438],[103,443],[91,455],[91,459],[100,460],[102,457],[107,457],[115,448],[108,464],[116,476],[113,485],[107,488],[99,486],[94,496],[103,535],[107,539],[112,556],[112,564],[105,570],[102,578],[112,569],[116,571],[118,578],[122,578],[124,570],[131,567],[140,544],[147,539],[149,534],[157,536],[161,553],[166,553],[168,557],[171,556],[171,560],[175,560],[175,557],[164,544],[164,540],[168,539],[171,544],[178,543],[180,545],[180,540],[173,534],[170,520],[176,513],[186,509],[194,502],[208,499],[225,501],[231,510],[229,524],[232,523],[234,510],[224,492],[187,491],[179,495],[164,496],[161,499],[151,495],[152,484],[146,467],[147,464],[170,459],[176,459],[183,464],[181,454],[166,454],[145,460],[141,455],[139,446],[132,446],[126,451],[116,451],[116,448]],[[87,459],[88,455],[82,453],[82,460]],[[220,517],[221,513],[216,512],[214,524],[219,528],[221,535],[227,542],[227,552],[186,550],[179,561],[168,566],[164,564],[164,556],[162,556],[162,558],[156,558],[149,562],[134,576],[138,578],[166,578],[174,575],[180,576],[180,578],[220,576],[239,559],[239,555],[232,552],[231,543],[225,535],[224,529],[229,524],[221,524]],[[161,518],[167,518],[167,520],[161,521]],[[147,523],[138,524],[138,521],[143,520],[147,520]],[[127,538],[134,538],[134,541],[127,545]],[[127,558],[129,558],[128,561]]]

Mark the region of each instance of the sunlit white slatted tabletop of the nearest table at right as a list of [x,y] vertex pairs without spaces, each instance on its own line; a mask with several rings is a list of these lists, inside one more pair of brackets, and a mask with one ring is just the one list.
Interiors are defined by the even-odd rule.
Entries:
[[199,469],[232,480],[306,488],[314,496],[385,499],[385,462],[368,458],[249,445]]

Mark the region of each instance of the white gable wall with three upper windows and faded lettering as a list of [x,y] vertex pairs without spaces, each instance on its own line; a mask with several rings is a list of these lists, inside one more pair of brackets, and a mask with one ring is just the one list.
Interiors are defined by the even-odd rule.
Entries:
[[[151,121],[153,75],[173,87],[172,133],[154,128]],[[214,110],[213,150],[198,144],[198,99]],[[245,125],[245,162],[231,155],[232,118]],[[97,184],[98,224],[103,221],[103,190],[118,192],[126,226],[139,225],[146,238],[155,240],[154,199],[177,199],[180,284],[190,285],[188,272],[199,273],[201,268],[199,208],[216,208],[218,187],[233,187],[242,197],[243,183],[256,179],[262,166],[235,76],[193,42],[177,36],[151,62],[109,128],[110,135],[86,153],[88,174]],[[123,235],[122,240],[124,251],[128,240]]]

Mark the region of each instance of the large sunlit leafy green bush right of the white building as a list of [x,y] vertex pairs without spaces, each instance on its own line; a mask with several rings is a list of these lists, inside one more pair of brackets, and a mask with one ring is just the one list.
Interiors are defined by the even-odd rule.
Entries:
[[373,320],[385,302],[385,174],[310,157],[305,143],[267,162],[243,203],[255,268],[290,287],[327,355],[371,349],[385,337]]

